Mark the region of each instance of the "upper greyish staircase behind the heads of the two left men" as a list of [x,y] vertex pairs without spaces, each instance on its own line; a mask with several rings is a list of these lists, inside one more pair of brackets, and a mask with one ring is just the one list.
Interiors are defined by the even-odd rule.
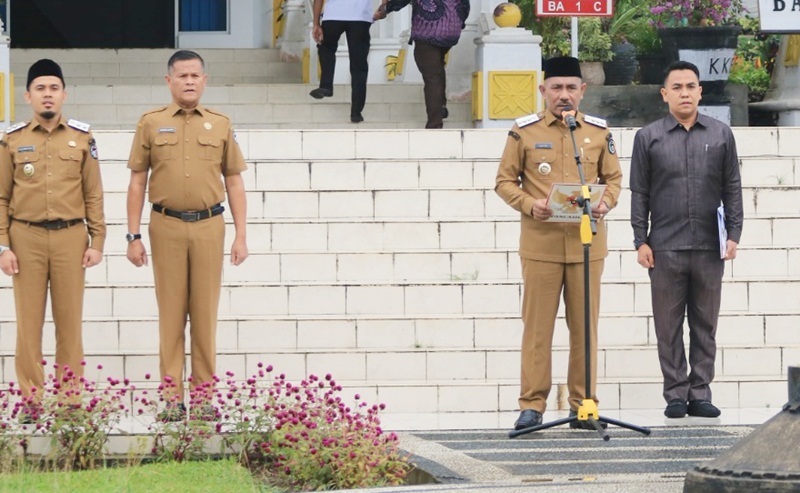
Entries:
[[[145,111],[168,104],[164,76],[174,52],[163,50],[11,50],[16,75],[15,120],[29,120],[25,104],[28,67],[40,58],[59,62],[67,83],[64,114],[94,129],[131,129]],[[355,128],[350,122],[350,86],[336,85],[322,101],[308,93],[299,61],[280,60],[274,49],[198,50],[209,74],[203,103],[229,115],[237,128]],[[337,71],[347,72],[339,63]],[[383,70],[373,67],[372,70]],[[467,101],[448,103],[448,128],[472,128]],[[422,84],[375,84],[367,91],[365,121],[358,128],[422,128]]]

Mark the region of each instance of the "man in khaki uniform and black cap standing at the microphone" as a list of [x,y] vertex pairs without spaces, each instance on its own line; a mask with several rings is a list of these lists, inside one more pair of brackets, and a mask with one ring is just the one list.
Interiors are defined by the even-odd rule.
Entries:
[[[607,185],[605,195],[592,216],[597,235],[589,257],[592,390],[597,378],[597,319],[600,305],[600,276],[606,247],[605,215],[617,204],[622,171],[608,125],[602,118],[578,110],[586,91],[578,59],[557,57],[544,62],[544,83],[539,92],[545,111],[516,120],[508,132],[500,158],[495,191],[520,212],[519,255],[522,262],[522,372],[519,419],[515,429],[542,422],[552,386],[551,349],[559,299],[563,292],[569,329],[570,354],[567,375],[569,406],[575,414],[584,398],[586,369],[584,356],[583,245],[579,223],[549,222],[552,210],[547,196],[554,183],[580,183],[571,132],[574,132],[587,184]],[[573,127],[572,129],[570,127]],[[572,428],[589,427],[575,421]],[[589,427],[588,429],[594,429]]]

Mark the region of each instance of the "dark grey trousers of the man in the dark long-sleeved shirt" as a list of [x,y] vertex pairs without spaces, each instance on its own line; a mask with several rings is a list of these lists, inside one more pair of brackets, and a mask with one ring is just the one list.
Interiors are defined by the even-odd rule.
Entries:
[[[655,252],[654,259],[650,286],[664,399],[711,400],[725,262],[716,251]],[[683,347],[684,316],[691,371]]]

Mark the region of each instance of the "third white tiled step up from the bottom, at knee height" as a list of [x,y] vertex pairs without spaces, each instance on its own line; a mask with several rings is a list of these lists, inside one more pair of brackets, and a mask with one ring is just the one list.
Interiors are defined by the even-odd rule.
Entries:
[[[719,347],[781,348],[797,351],[800,333],[797,309],[782,313],[742,314],[723,310],[720,314]],[[0,351],[13,351],[14,320],[0,320]],[[52,319],[47,320],[44,349],[55,348]],[[158,349],[158,318],[86,317],[84,336],[91,354],[153,354]],[[688,336],[688,335],[687,335]],[[187,337],[190,338],[189,334]],[[225,353],[278,352],[354,352],[391,351],[516,351],[522,337],[522,322],[517,314],[489,313],[468,315],[223,315],[219,319],[217,346]],[[599,347],[603,351],[636,351],[654,348],[656,337],[650,313],[601,313]],[[556,319],[553,347],[569,347],[569,336],[562,313]],[[794,349],[792,349],[794,348]],[[791,359],[791,358],[790,358]],[[755,360],[752,360],[755,363]],[[783,363],[791,363],[784,361]]]

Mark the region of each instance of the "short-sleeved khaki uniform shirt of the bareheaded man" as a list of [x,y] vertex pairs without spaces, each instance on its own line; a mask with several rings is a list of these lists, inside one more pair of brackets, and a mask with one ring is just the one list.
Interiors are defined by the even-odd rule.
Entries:
[[247,169],[225,115],[172,103],[145,113],[136,127],[128,168],[151,171],[150,202],[198,211],[225,200],[221,176]]

